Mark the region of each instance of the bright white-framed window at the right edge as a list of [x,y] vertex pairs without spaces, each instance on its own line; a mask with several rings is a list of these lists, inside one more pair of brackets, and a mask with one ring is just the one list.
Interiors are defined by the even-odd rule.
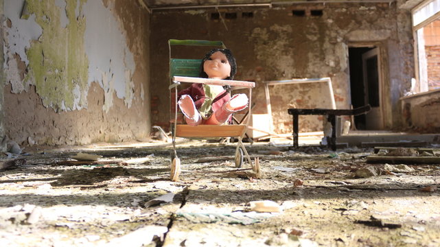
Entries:
[[440,89],[440,0],[424,1],[413,9],[415,34],[415,93]]

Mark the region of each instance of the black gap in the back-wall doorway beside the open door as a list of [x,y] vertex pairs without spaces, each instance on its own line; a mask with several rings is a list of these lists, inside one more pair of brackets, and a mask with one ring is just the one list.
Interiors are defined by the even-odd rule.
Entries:
[[[379,84],[378,84],[378,60],[377,57],[369,58],[366,62],[367,83],[364,83],[364,71],[362,68],[362,54],[374,49],[374,47],[349,47],[349,70],[351,104],[353,108],[370,104],[371,107],[379,106]],[[375,72],[375,73],[374,73]],[[366,89],[364,85],[368,85]],[[358,130],[366,130],[367,119],[365,115],[354,117],[354,124]]]

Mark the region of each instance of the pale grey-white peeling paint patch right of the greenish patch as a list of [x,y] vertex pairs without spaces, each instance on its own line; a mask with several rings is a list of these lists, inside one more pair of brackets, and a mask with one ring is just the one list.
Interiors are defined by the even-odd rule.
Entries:
[[[127,95],[126,80],[127,71],[132,73],[135,71],[135,60],[133,54],[126,44],[125,31],[121,28],[121,23],[117,21],[111,10],[114,8],[114,1],[108,1],[108,8],[104,6],[102,1],[88,1],[84,5],[84,15],[86,16],[88,25],[86,26],[84,42],[86,53],[89,57],[89,83],[104,82],[103,73],[112,74],[111,78],[114,82],[114,91],[120,99],[124,97],[132,97]],[[105,25],[102,25],[102,20]],[[104,90],[107,90],[102,84]],[[107,95],[113,97],[113,95]],[[124,99],[131,102],[132,98]],[[106,99],[111,102],[111,99]],[[130,104],[128,104],[130,105]]]

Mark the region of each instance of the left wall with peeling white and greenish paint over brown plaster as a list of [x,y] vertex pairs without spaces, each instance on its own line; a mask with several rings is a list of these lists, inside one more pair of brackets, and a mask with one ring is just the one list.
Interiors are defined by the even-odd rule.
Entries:
[[139,1],[5,0],[5,130],[19,143],[150,132],[149,16]]

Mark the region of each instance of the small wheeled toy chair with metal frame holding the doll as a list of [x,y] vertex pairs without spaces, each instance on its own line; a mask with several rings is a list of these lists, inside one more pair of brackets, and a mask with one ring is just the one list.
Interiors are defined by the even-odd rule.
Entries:
[[[172,144],[174,153],[172,154],[172,166],[171,166],[171,180],[178,180],[178,176],[181,172],[181,161],[178,158],[176,152],[176,137],[185,138],[221,138],[221,137],[236,137],[238,139],[237,148],[235,149],[235,167],[242,167],[244,156],[246,160],[251,165],[253,172],[259,177],[259,162],[256,159],[253,164],[251,158],[249,157],[242,139],[246,133],[248,127],[248,119],[244,122],[245,124],[236,125],[199,125],[199,126],[189,126],[187,124],[178,124],[178,106],[177,106],[177,93],[178,85],[181,83],[201,83],[201,84],[211,84],[220,86],[231,86],[231,89],[248,89],[248,106],[251,106],[252,99],[252,89],[255,87],[255,82],[244,82],[238,80],[216,80],[208,78],[198,78],[200,72],[201,59],[179,59],[171,58],[171,48],[174,45],[192,45],[192,46],[211,46],[211,47],[222,47],[224,43],[222,41],[207,41],[207,40],[168,40],[168,45],[170,49],[170,95],[172,97],[171,104],[172,110],[174,109],[174,121],[171,121],[172,129]],[[173,92],[174,91],[174,92]],[[173,99],[174,98],[174,99]],[[173,105],[174,104],[174,105]],[[251,115],[251,108],[248,107],[249,113]]]

